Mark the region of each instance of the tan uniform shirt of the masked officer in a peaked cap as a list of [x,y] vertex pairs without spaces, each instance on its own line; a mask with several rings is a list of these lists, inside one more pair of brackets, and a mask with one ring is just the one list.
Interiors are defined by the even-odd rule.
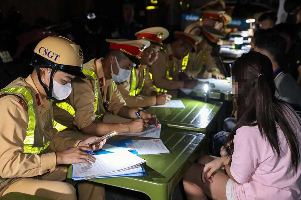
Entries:
[[[126,106],[126,103],[116,86],[114,87],[112,96],[110,96],[109,86],[112,84],[112,79],[105,80],[101,62],[100,66],[98,66],[97,68],[94,61],[95,59],[92,59],[88,63],[85,63],[83,65],[83,69],[97,72],[97,78],[98,80],[100,80],[100,87],[98,88],[98,98],[103,98],[103,102],[109,102],[108,111],[117,115],[120,108]],[[75,78],[71,81],[71,87],[72,92],[64,101],[74,108],[76,112],[75,117],[70,115],[67,111],[58,108],[56,105],[53,105],[54,119],[58,123],[61,123],[65,126],[71,127],[74,125],[77,126],[77,128],[82,129],[90,125],[95,120],[93,104],[95,94],[93,91],[92,83],[89,79]],[[99,106],[103,108],[103,105]],[[102,120],[102,118],[99,119]]]

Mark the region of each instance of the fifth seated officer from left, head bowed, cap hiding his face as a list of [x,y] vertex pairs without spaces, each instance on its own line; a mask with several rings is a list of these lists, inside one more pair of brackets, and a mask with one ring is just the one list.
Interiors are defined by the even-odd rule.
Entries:
[[216,45],[220,38],[224,38],[224,34],[213,27],[203,25],[201,36],[202,42],[198,44],[197,53],[188,55],[188,61],[184,73],[187,77],[193,78],[225,78],[216,66],[215,60],[211,55],[212,48]]

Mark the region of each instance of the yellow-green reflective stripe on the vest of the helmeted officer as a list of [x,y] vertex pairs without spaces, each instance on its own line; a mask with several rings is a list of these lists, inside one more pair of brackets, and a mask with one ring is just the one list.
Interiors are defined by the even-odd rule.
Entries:
[[[35,153],[40,154],[46,148],[48,148],[50,141],[48,141],[43,147],[33,147],[34,144],[34,129],[35,129],[35,113],[33,107],[33,98],[29,91],[26,88],[8,88],[0,90],[0,93],[21,93],[26,98],[28,103],[28,124],[26,128],[26,137],[23,142],[24,144],[24,153]],[[51,103],[51,102],[50,102]],[[44,138],[43,138],[44,140]]]

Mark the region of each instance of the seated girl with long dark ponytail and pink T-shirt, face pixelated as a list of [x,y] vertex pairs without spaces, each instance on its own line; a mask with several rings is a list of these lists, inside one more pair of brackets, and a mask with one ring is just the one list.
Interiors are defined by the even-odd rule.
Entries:
[[238,113],[230,146],[221,158],[193,163],[183,177],[187,199],[301,200],[301,119],[275,97],[271,61],[258,52],[243,54],[232,77]]

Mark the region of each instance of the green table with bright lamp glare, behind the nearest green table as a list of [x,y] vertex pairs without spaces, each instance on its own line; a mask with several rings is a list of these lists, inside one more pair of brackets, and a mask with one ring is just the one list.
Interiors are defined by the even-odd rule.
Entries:
[[206,134],[207,128],[214,125],[218,119],[223,103],[211,101],[204,103],[193,99],[172,98],[181,100],[185,108],[156,108],[150,107],[146,111],[157,115],[162,124],[170,128],[184,129]]

